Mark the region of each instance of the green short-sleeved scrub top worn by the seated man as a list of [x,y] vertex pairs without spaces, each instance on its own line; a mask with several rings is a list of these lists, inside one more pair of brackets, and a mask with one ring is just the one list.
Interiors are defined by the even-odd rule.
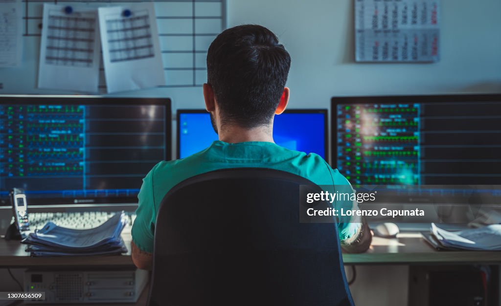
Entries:
[[[319,155],[289,150],[272,142],[226,143],[214,141],[207,149],[186,158],[162,161],[143,179],[139,206],[132,226],[132,240],[143,251],[153,252],[156,214],[167,192],[185,179],[198,174],[228,168],[269,168],[302,176],[317,185],[349,185],[348,180]],[[337,208],[352,209],[353,203],[335,203]],[[340,220],[339,238],[355,234],[360,223]]]

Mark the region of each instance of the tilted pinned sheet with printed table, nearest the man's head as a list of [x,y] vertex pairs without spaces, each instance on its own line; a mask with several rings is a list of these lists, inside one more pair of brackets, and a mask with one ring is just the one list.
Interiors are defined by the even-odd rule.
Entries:
[[153,3],[98,11],[108,93],[165,85]]

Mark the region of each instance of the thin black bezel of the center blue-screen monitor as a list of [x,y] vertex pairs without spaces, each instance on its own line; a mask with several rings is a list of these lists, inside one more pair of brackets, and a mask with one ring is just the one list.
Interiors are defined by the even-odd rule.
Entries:
[[[326,108],[301,108],[301,109],[286,109],[285,114],[322,114],[324,115],[324,159],[329,163],[329,110]],[[205,109],[178,109],[176,114],[176,158],[181,156],[180,148],[180,117],[181,114],[204,114],[207,113]],[[280,116],[280,115],[279,115]],[[310,152],[306,152],[310,153]]]

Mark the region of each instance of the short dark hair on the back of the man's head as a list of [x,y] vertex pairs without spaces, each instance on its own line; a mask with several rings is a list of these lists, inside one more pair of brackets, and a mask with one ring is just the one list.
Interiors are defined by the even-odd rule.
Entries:
[[244,128],[269,124],[290,67],[291,56],[265,27],[243,25],[219,34],[207,53],[207,83],[222,122]]

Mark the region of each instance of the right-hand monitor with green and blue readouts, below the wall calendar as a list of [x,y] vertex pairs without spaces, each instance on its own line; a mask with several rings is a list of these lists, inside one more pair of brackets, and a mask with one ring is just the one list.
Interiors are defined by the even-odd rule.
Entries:
[[352,184],[501,184],[501,95],[334,97],[331,114]]

